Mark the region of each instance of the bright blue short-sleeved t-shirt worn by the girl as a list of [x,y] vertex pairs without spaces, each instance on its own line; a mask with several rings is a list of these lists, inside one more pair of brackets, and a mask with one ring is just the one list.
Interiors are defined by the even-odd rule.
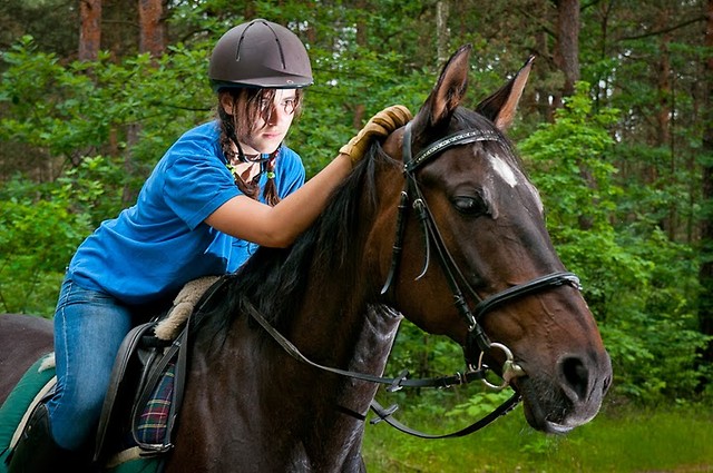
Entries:
[[[172,296],[201,276],[236,270],[257,245],[212,228],[204,220],[241,195],[218,144],[216,121],[183,135],[158,161],[137,203],[104,221],[77,249],[70,276],[125,304]],[[300,156],[281,147],[275,184],[281,198],[304,184]],[[266,176],[261,176],[262,189]]]

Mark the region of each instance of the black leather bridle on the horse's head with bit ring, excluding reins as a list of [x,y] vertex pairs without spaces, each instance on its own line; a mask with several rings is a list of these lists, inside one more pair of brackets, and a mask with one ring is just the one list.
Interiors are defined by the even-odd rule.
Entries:
[[[510,378],[522,375],[524,372],[512,362],[511,352],[505,345],[490,342],[480,323],[482,316],[494,308],[499,307],[512,299],[517,299],[553,287],[559,287],[564,284],[580,288],[579,278],[573,273],[556,272],[537,277],[527,283],[515,285],[486,298],[480,297],[470,286],[470,284],[459,269],[458,265],[456,264],[450,252],[446,247],[443,238],[438,229],[438,226],[436,225],[436,220],[433,219],[433,215],[431,214],[428,204],[423,198],[423,194],[421,193],[418,180],[416,179],[416,171],[421,166],[429,162],[429,160],[438,157],[442,151],[455,146],[468,145],[477,141],[502,142],[502,138],[494,130],[470,129],[449,135],[446,138],[442,138],[429,145],[418,155],[416,155],[416,157],[413,157],[411,154],[411,122],[409,122],[407,124],[406,130],[403,132],[402,144],[403,174],[406,176],[406,184],[401,193],[401,201],[399,203],[397,234],[392,248],[391,266],[389,268],[387,282],[381,289],[381,294],[385,294],[392,287],[395,274],[399,268],[399,260],[403,245],[403,233],[406,229],[406,217],[409,211],[409,203],[411,203],[411,206],[416,210],[417,218],[423,229],[423,237],[426,240],[426,259],[423,269],[416,279],[418,280],[426,274],[430,260],[430,248],[431,246],[433,246],[438,253],[438,262],[440,263],[443,274],[446,275],[446,280],[453,294],[453,304],[468,324],[466,361],[469,365],[475,365],[472,363],[473,361],[469,359],[469,354],[475,353],[473,349],[476,347],[478,347],[479,352],[481,353],[480,359],[482,359],[482,353],[485,352],[488,352],[492,348],[501,349],[506,354],[507,358],[506,365],[502,369],[505,385],[507,385]],[[478,300],[478,304],[476,305],[473,311],[470,309],[468,302],[461,290],[461,286],[465,287],[468,295],[472,299]],[[478,363],[481,364],[481,362]],[[505,385],[502,387],[505,387]]]

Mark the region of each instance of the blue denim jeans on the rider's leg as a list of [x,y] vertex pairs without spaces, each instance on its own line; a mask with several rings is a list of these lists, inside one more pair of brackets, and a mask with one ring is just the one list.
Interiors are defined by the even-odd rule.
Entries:
[[59,446],[78,451],[92,438],[114,359],[133,325],[127,306],[65,278],[55,312],[57,391],[47,403]]

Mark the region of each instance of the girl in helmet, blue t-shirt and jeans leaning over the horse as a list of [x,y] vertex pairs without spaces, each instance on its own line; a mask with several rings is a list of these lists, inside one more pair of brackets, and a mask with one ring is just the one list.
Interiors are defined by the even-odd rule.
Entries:
[[[136,204],[104,221],[72,257],[55,313],[57,388],[33,412],[9,472],[81,471],[114,359],[149,304],[183,285],[235,272],[258,245],[285,247],[324,208],[369,139],[410,119],[374,116],[339,156],[304,183],[283,145],[312,70],[300,39],[262,19],[216,43],[209,77],[218,117],[182,136],[158,161]],[[84,466],[82,466],[84,464]]]

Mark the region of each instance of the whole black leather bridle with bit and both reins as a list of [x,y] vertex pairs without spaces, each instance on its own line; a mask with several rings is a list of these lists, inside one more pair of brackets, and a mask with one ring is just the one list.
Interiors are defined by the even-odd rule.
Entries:
[[[426,199],[419,188],[418,180],[416,179],[416,171],[427,164],[429,160],[439,156],[442,151],[451,148],[453,146],[468,145],[477,141],[501,141],[501,137],[492,130],[479,130],[479,129],[470,129],[461,132],[457,132],[453,135],[449,135],[446,138],[442,138],[423,150],[421,150],[416,157],[411,154],[411,122],[407,124],[404,135],[403,135],[403,144],[402,144],[402,154],[403,154],[403,174],[406,177],[404,188],[401,193],[401,200],[399,203],[399,213],[397,217],[397,233],[394,237],[394,244],[392,247],[392,258],[391,265],[389,268],[389,274],[387,276],[387,280],[381,289],[381,294],[387,294],[389,289],[393,287],[395,274],[399,269],[399,262],[401,259],[401,250],[403,244],[403,235],[406,229],[406,220],[407,214],[409,213],[409,204],[416,210],[417,218],[421,224],[423,230],[423,237],[426,243],[426,258],[424,265],[421,274],[417,277],[419,279],[422,277],[428,270],[430,263],[430,252],[431,246],[433,246],[438,254],[438,260],[440,266],[446,275],[446,279],[448,285],[453,294],[453,303],[458,309],[458,312],[463,316],[466,323],[468,324],[468,338],[466,342],[466,362],[468,366],[468,371],[465,373],[456,373],[451,376],[442,376],[442,377],[432,377],[432,378],[423,378],[423,380],[410,380],[408,378],[408,371],[401,372],[397,377],[381,377],[375,375],[370,375],[365,373],[356,373],[350,372],[345,369],[339,369],[334,367],[323,366],[318,363],[312,362],[306,358],[296,346],[294,346],[289,339],[286,339],[280,332],[277,332],[271,324],[267,322],[263,315],[247,300],[243,299],[244,307],[247,309],[250,315],[260,325],[285,349],[287,354],[292,357],[296,358],[300,362],[306,363],[313,367],[319,369],[323,369],[333,374],[348,376],[361,381],[385,384],[389,387],[387,391],[394,392],[402,387],[450,387],[453,385],[467,384],[472,381],[480,380],[486,383],[489,387],[501,391],[510,384],[510,381],[517,376],[524,376],[524,369],[518,366],[515,361],[511,351],[500,344],[492,343],[486,335],[482,326],[480,324],[480,319],[482,316],[492,311],[494,308],[510,302],[515,298],[524,297],[527,295],[531,295],[545,289],[555,288],[563,286],[565,284],[570,285],[575,288],[580,288],[579,278],[568,272],[556,272],[545,276],[540,276],[527,283],[518,284],[512,287],[509,287],[500,293],[494,294],[486,298],[480,297],[476,290],[470,286],[467,282],[466,277],[460,272],[458,265],[456,264],[453,257],[450,252],[446,247],[443,243],[443,238],[436,225],[436,220],[426,203]],[[460,284],[459,284],[460,283]],[[466,288],[468,295],[477,300],[477,305],[473,311],[470,309],[466,296],[461,290],[461,286]],[[471,353],[473,348],[478,348],[480,352],[480,358],[478,361],[477,367],[472,359],[468,359],[468,353]],[[486,380],[486,374],[490,368],[482,363],[482,355],[491,349],[500,349],[504,352],[506,356],[506,361],[504,363],[501,369],[501,377],[504,380],[501,385],[492,385]],[[475,353],[475,352],[473,352]],[[490,424],[499,416],[505,415],[510,412],[520,401],[520,395],[515,393],[511,397],[505,401],[500,406],[496,407],[490,414],[486,415],[481,420],[471,424],[470,426],[462,428],[458,432],[442,434],[442,435],[432,435],[426,434],[416,430],[412,430],[393,417],[391,415],[395,412],[398,406],[392,405],[391,407],[384,408],[377,401],[371,402],[371,410],[377,414],[377,417],[371,421],[372,424],[375,424],[381,421],[385,421],[391,426],[398,428],[401,432],[408,433],[410,435],[419,436],[422,438],[448,438],[448,437],[460,437],[468,434],[471,434],[486,425]],[[351,415],[356,416],[360,420],[364,420],[365,415],[361,415],[358,413],[349,412]]]

